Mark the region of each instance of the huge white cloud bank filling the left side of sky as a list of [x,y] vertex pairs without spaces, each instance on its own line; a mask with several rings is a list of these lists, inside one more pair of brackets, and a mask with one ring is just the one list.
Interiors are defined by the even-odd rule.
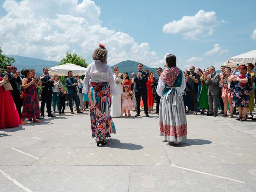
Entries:
[[5,54],[60,61],[66,52],[92,60],[100,42],[108,49],[108,63],[135,60],[160,64],[147,42],[101,26],[100,7],[92,0],[6,0],[0,18],[0,45]]

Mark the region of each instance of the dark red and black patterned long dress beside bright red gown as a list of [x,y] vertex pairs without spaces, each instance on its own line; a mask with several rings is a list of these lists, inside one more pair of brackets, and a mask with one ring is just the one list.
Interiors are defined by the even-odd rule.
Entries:
[[[28,83],[32,81],[28,79]],[[40,116],[39,100],[36,84],[31,84],[23,90],[22,118],[36,118]]]

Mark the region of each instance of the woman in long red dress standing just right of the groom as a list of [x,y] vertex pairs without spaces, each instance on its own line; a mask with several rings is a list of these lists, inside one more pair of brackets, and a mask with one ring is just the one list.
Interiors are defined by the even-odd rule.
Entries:
[[[154,82],[154,74],[153,72],[151,72],[151,74],[149,75],[149,71],[147,69],[145,69],[144,71],[148,74],[148,81],[146,82],[147,90],[148,90],[148,99],[147,99],[148,113],[152,114],[151,108],[154,106],[154,98],[153,98],[153,91],[152,91],[151,84]],[[144,107],[142,99],[140,100],[140,106]]]

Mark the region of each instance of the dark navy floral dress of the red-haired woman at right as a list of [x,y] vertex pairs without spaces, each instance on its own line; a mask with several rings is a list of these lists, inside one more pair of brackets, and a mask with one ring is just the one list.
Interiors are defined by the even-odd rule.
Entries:
[[232,82],[234,84],[233,107],[249,107],[252,77],[247,73],[245,78],[248,79],[245,85],[241,82]]

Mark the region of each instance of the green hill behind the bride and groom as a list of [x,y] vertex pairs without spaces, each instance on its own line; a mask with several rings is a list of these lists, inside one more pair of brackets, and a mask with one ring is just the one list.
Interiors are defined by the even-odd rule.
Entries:
[[[128,72],[129,77],[131,77],[133,72],[138,71],[138,63],[139,62],[127,60],[127,61],[122,61],[116,65],[113,65],[111,66],[111,68],[113,70],[114,66],[117,66],[120,73]],[[150,72],[152,71],[154,73],[156,73],[156,70],[157,70],[157,68],[150,68],[143,64],[143,70],[144,69],[148,69]]]

